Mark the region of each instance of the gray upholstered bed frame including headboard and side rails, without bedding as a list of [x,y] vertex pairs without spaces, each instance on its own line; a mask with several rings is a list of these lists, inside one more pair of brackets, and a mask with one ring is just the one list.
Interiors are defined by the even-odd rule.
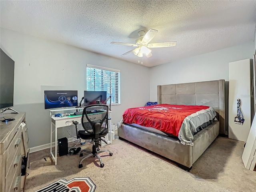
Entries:
[[194,146],[183,145],[177,138],[122,124],[118,137],[177,162],[189,171],[219,133],[225,132],[225,81],[204,81],[159,85],[158,104],[205,105],[214,108],[217,120],[194,135]]

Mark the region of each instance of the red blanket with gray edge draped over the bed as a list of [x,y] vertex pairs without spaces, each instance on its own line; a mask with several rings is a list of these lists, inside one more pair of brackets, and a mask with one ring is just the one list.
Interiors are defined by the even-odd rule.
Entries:
[[118,126],[126,123],[150,127],[178,137],[182,144],[194,145],[193,135],[203,124],[209,125],[215,116],[214,109],[208,106],[159,104],[127,109]]

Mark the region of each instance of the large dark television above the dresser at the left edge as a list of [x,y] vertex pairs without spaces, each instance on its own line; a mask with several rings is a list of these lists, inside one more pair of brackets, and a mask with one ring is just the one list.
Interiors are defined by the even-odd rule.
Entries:
[[0,109],[4,109],[13,107],[14,61],[0,50]]

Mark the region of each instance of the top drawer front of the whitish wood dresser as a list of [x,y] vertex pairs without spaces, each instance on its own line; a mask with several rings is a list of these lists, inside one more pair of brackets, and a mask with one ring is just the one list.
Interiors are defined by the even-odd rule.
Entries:
[[[17,153],[17,150],[20,150],[20,145],[23,145],[22,139],[21,139],[21,128],[18,129],[18,132],[14,135],[14,138],[10,142],[7,150],[6,150],[6,174],[8,173],[8,170],[15,158],[15,154]],[[19,151],[20,153],[20,151]]]

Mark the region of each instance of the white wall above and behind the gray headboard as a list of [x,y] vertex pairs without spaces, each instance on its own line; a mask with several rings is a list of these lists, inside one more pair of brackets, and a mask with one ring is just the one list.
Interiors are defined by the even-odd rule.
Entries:
[[254,42],[250,42],[152,67],[150,101],[157,101],[158,85],[219,79],[228,81],[228,63],[253,58],[254,52]]

